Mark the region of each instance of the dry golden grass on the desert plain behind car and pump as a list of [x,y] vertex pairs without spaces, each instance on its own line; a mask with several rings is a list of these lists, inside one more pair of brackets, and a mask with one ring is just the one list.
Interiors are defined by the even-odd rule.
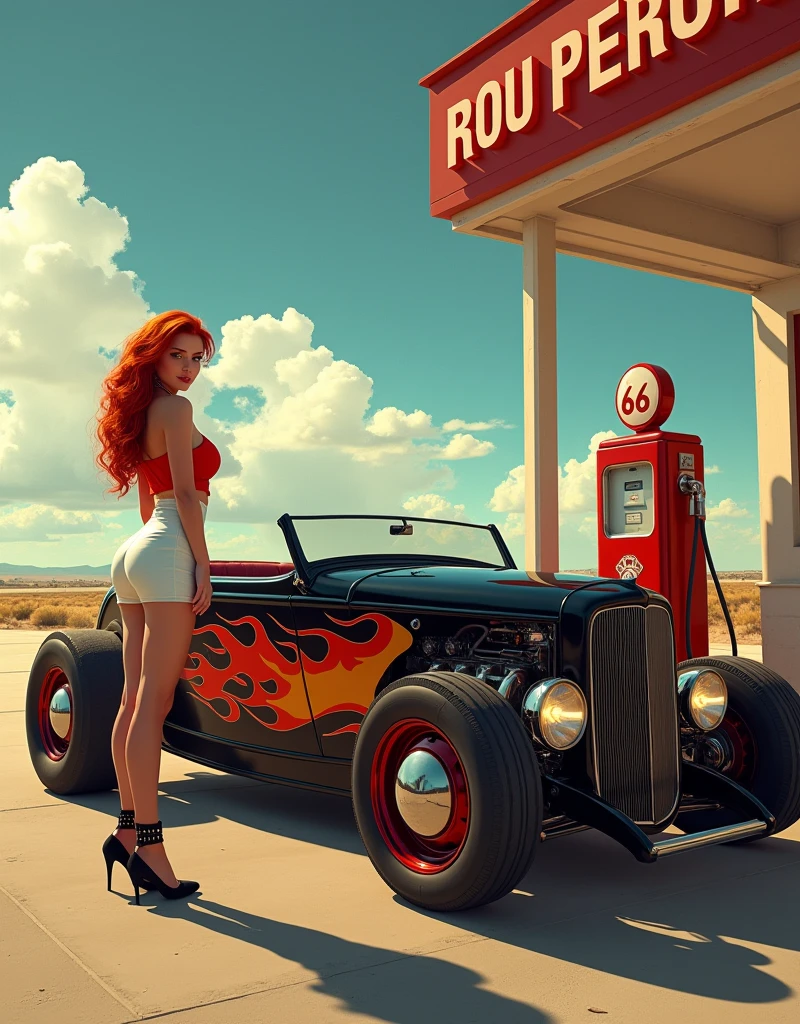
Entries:
[[[709,581],[709,638],[712,643],[727,641],[727,627]],[[722,581],[736,639],[741,643],[761,643],[761,610],[758,587],[750,582]],[[101,591],[85,594],[43,590],[41,594],[0,594],[0,629],[52,630],[70,627],[90,629],[104,596]]]

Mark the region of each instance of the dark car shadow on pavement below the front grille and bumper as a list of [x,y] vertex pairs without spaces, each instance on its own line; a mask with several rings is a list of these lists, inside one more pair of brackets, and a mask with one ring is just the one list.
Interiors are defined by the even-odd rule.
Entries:
[[[770,970],[782,950],[800,951],[800,843],[774,838],[641,864],[606,837],[582,833],[544,844],[534,864],[505,899],[435,916],[567,964],[693,995],[765,1004],[794,994]],[[662,885],[658,872],[665,869]],[[767,948],[752,948],[759,946]],[[781,965],[784,978],[792,971]]]

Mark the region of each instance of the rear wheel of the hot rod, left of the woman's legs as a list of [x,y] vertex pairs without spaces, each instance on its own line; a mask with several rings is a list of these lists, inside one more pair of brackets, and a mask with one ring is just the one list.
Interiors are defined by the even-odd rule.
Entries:
[[28,677],[26,732],[34,771],[62,795],[112,790],[111,734],[125,671],[109,630],[58,630],[36,652]]

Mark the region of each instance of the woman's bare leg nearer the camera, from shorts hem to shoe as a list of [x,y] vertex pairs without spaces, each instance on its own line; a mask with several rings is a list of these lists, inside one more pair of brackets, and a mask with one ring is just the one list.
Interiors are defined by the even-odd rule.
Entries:
[[[188,601],[146,601],[142,608],[141,682],[128,730],[125,760],[136,821],[152,824],[159,820],[164,719],[172,705],[178,676],[186,664],[196,615]],[[138,854],[166,885],[178,884],[162,843],[144,846]]]

